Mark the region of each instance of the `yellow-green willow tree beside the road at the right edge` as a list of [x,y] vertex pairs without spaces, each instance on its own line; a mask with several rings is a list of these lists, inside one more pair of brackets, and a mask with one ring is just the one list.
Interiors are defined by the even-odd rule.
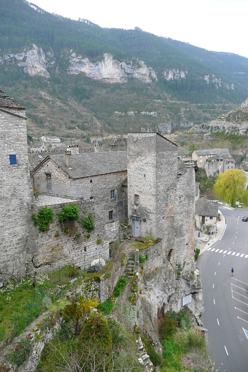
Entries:
[[228,169],[220,173],[213,192],[215,198],[235,207],[235,202],[248,203],[248,191],[246,190],[246,176],[241,169]]

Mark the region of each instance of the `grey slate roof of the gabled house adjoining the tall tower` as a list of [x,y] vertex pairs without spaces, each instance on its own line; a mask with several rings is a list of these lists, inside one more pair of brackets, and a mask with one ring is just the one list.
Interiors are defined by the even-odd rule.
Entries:
[[97,176],[128,169],[126,151],[72,154],[71,168],[65,165],[65,155],[49,155],[71,178]]

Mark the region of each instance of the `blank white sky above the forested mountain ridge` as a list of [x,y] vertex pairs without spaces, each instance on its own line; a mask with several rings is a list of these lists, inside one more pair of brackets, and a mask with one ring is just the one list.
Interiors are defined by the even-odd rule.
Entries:
[[248,0],[31,1],[50,13],[85,18],[101,27],[138,26],[197,47],[248,57]]

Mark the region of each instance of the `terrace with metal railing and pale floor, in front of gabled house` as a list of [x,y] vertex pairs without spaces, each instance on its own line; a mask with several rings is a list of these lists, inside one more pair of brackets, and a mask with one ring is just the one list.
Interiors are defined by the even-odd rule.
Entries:
[[38,206],[90,199],[90,187],[32,179],[33,195]]

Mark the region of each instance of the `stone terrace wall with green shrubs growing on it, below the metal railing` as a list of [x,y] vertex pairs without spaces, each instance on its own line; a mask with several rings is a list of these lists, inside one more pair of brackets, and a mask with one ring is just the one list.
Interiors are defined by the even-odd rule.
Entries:
[[[79,221],[76,222],[77,230],[74,234],[65,234],[58,221],[58,213],[61,212],[65,204],[52,205],[54,210],[54,222],[50,225],[47,232],[40,232],[36,241],[36,249],[39,253],[42,266],[41,272],[50,272],[74,262],[76,266],[84,269],[84,264],[88,268],[95,259],[102,258],[105,262],[109,259],[109,242],[118,239],[118,221],[108,221],[103,223],[95,215],[94,200],[76,202],[80,213],[79,219],[94,215],[95,229],[91,231],[90,238],[87,238],[87,230],[83,228]],[[68,205],[68,203],[67,203]],[[55,236],[55,234],[59,234]],[[80,234],[77,235],[77,234]],[[102,238],[102,242],[97,244],[97,240]]]

